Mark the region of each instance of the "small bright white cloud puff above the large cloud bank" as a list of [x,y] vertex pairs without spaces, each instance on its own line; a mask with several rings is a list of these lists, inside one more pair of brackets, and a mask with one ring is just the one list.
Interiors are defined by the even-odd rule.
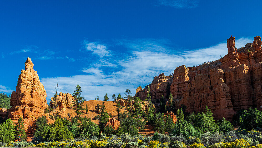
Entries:
[[99,55],[101,58],[103,56],[110,56],[110,51],[107,50],[107,47],[96,42],[85,41],[85,48],[88,51],[92,51],[93,54]]

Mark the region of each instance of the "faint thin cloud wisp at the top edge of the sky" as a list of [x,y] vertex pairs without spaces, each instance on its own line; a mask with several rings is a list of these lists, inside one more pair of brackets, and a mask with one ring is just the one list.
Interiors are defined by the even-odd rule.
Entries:
[[196,8],[198,0],[158,0],[158,4],[176,8]]

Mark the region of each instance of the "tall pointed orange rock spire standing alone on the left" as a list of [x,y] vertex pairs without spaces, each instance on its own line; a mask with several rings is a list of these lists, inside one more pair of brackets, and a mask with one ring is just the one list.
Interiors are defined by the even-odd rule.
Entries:
[[44,109],[47,107],[46,91],[40,82],[34,64],[30,58],[25,62],[25,70],[21,70],[18,77],[16,91],[11,94],[8,109],[8,118],[17,122],[22,118],[25,122],[26,131],[31,131],[31,126],[38,117],[45,115]]

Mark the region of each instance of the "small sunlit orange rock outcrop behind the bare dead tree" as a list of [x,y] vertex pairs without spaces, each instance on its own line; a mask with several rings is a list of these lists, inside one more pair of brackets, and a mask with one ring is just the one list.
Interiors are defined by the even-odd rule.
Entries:
[[[74,96],[67,93],[64,94],[63,92],[60,92],[59,95],[57,95],[57,107],[61,111],[61,108],[71,108],[73,103]],[[53,106],[54,98],[52,97],[50,100],[49,105]]]

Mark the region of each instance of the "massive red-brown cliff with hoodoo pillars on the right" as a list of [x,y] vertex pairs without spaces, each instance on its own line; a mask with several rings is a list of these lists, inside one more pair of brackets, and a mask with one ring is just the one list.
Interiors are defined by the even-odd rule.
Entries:
[[[196,67],[177,67],[170,88],[162,87],[157,96],[170,91],[175,108],[181,106],[188,112],[204,111],[208,105],[215,119],[225,117],[232,120],[239,109],[261,109],[261,44],[261,38],[254,37],[254,42],[239,48],[242,52],[239,53],[235,47],[235,38],[231,36],[227,39],[227,55]],[[152,88],[155,85],[154,80],[147,86]],[[157,86],[165,86],[166,83],[167,81],[158,81]],[[145,92],[146,88],[136,92],[136,95],[143,100]]]

